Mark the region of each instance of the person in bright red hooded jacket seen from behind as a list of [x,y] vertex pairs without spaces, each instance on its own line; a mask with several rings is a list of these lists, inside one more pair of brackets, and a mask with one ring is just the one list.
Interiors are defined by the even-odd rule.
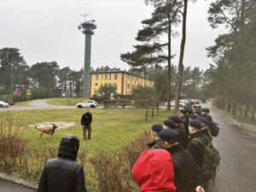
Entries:
[[142,192],[176,192],[172,157],[166,149],[143,151],[131,174]]

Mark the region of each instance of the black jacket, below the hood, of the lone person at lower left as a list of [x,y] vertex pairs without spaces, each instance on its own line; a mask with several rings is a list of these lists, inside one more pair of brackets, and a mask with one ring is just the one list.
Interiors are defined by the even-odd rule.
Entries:
[[84,168],[65,157],[48,160],[38,184],[38,192],[86,192]]

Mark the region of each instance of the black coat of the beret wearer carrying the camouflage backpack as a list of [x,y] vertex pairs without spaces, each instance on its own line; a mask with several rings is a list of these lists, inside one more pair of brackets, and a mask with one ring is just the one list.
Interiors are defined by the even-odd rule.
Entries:
[[205,155],[205,146],[201,143],[193,141],[194,138],[199,138],[202,143],[205,143],[205,145],[209,144],[210,142],[208,138],[204,135],[203,131],[195,132],[191,134],[189,138],[189,143],[186,149],[190,152],[190,154],[192,154],[197,165],[202,166]]

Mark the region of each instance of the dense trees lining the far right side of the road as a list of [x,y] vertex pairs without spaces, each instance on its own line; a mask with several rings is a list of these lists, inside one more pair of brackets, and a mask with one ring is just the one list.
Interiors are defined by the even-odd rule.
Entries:
[[[219,108],[233,115],[249,109],[251,120],[256,106],[256,2],[219,0],[211,4],[208,21],[212,29],[224,25],[228,32],[207,48],[214,64],[206,71],[207,95],[216,97]],[[239,109],[239,110],[237,110]]]

